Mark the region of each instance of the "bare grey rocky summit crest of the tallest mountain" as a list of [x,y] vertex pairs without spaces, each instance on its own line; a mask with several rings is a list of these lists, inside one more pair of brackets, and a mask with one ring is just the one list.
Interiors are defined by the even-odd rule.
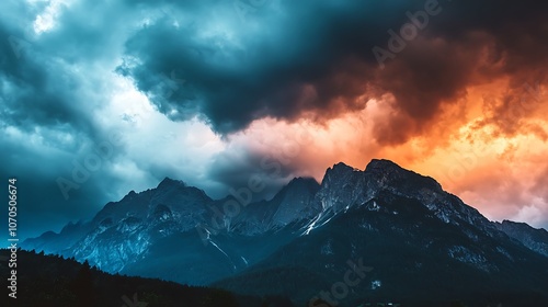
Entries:
[[478,211],[444,192],[434,179],[404,170],[389,160],[372,160],[365,171],[343,163],[335,164],[328,169],[316,201],[324,211],[338,213],[365,204],[387,191],[420,201],[445,223],[467,223],[484,230],[494,229]]

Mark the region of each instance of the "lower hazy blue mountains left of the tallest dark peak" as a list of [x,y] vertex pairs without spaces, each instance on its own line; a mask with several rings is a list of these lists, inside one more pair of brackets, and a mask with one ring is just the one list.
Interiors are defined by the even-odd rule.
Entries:
[[[206,285],[286,243],[290,231],[277,231],[277,241],[267,247],[259,235],[308,221],[317,212],[309,203],[318,189],[313,179],[295,179],[272,200],[242,206],[241,215],[230,218],[224,206],[236,202],[233,196],[214,201],[199,189],[167,178],[156,189],[130,191],[106,204],[90,221],[70,224],[60,234],[48,231],[23,247],[88,260],[111,273]],[[220,234],[204,245],[205,228],[199,225],[214,225],[207,229]],[[248,252],[242,254],[243,249]]]

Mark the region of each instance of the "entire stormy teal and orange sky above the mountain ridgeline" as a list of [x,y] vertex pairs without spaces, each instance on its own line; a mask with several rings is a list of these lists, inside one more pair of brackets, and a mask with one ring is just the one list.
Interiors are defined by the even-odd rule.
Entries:
[[165,177],[216,198],[261,178],[259,200],[373,158],[492,220],[548,228],[547,12],[534,0],[2,1],[0,174],[18,179],[19,236]]

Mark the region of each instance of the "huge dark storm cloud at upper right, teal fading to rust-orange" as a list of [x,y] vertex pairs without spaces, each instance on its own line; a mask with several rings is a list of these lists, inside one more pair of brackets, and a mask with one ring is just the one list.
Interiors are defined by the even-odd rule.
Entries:
[[[399,144],[424,133],[442,106],[456,103],[475,78],[540,73],[539,64],[546,62],[547,4],[436,2],[281,1],[278,12],[266,1],[244,20],[231,1],[174,4],[175,16],[198,13],[181,19],[179,27],[171,19],[159,19],[136,33],[126,43],[127,61],[119,71],[170,118],[197,115],[222,134],[264,116],[292,121],[306,114],[322,121],[364,107],[356,100],[362,94],[389,93],[395,113],[379,124],[376,137]],[[409,23],[407,12],[426,5],[438,13],[380,69],[372,49],[389,50],[387,31],[399,32]],[[222,13],[208,13],[216,10]],[[218,32],[212,30],[216,23]],[[486,46],[491,54],[481,57]],[[152,84],[168,82],[170,71],[186,83],[179,94],[167,96]],[[399,129],[402,123],[410,129]],[[387,129],[398,132],[385,134]]]

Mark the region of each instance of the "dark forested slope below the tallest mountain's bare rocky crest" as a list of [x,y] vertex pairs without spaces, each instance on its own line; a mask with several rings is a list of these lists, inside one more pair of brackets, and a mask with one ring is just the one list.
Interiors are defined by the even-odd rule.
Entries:
[[349,286],[342,299],[331,294],[338,306],[365,300],[403,306],[449,306],[453,300],[469,306],[522,306],[524,297],[548,303],[548,261],[541,255],[473,227],[465,234],[430,214],[416,200],[390,192],[351,207],[259,264],[214,285],[244,294],[276,293],[294,298],[296,305],[310,304],[321,291],[332,293],[333,285],[344,281],[349,261],[373,270],[365,272],[357,286]]

